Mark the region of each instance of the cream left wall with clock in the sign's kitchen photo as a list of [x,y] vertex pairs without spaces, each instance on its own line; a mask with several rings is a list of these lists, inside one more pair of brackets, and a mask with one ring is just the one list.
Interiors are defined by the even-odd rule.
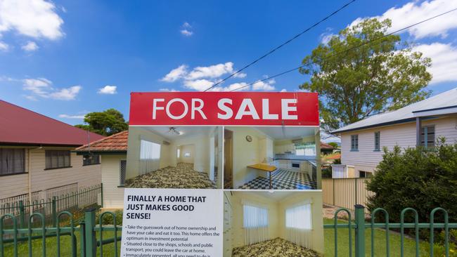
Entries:
[[[259,140],[265,136],[250,127],[226,127],[233,131],[233,188],[238,188],[250,180],[262,176],[262,171],[247,168],[248,165],[257,164],[265,156],[259,153]],[[252,142],[247,142],[246,136],[252,137]]]

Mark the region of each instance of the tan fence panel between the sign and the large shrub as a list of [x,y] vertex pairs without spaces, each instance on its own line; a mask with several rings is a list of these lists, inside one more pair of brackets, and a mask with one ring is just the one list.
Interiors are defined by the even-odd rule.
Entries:
[[356,204],[366,205],[374,195],[366,189],[370,178],[323,178],[323,203],[354,210]]

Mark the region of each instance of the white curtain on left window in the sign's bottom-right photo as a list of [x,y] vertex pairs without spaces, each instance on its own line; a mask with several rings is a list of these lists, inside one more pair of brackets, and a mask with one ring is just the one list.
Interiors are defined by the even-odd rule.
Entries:
[[245,244],[256,244],[269,239],[268,209],[243,205]]

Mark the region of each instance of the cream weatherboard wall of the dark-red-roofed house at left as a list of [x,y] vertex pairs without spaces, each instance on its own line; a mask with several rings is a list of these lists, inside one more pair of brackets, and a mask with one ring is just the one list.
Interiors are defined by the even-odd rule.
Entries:
[[[40,198],[46,197],[45,190],[77,183],[78,188],[98,185],[101,183],[101,165],[82,166],[82,156],[75,152],[70,154],[69,168],[46,168],[45,150],[74,150],[75,148],[42,147],[25,150],[25,170],[29,173],[0,177],[0,198],[23,195],[29,192],[29,175],[31,178],[32,192],[43,191]],[[30,157],[28,156],[30,154]],[[30,165],[27,161],[30,159]],[[28,170],[30,167],[30,170]]]

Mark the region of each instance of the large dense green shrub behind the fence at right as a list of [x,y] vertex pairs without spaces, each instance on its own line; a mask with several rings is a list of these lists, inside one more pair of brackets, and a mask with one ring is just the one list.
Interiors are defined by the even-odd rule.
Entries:
[[[382,162],[368,190],[375,192],[368,209],[381,206],[392,222],[399,222],[401,210],[416,209],[420,222],[430,221],[430,211],[442,207],[449,213],[449,222],[457,221],[457,144],[445,145],[440,139],[433,150],[424,147],[400,147],[384,150]],[[412,221],[411,212],[405,220]],[[435,223],[443,222],[441,211],[435,213]]]

